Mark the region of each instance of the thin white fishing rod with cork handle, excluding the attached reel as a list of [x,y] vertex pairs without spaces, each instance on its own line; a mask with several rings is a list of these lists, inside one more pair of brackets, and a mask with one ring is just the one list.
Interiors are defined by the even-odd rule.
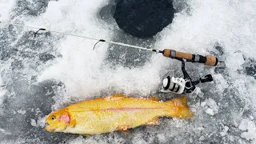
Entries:
[[[107,43],[112,43],[112,44],[119,45],[119,46],[132,47],[132,48],[136,48],[136,49],[140,49],[140,50],[149,50],[149,51],[152,51],[152,52],[155,52],[155,53],[161,53],[166,58],[172,58],[172,59],[178,59],[178,60],[183,58],[183,59],[186,59],[186,62],[204,63],[206,66],[216,66],[218,64],[218,58],[216,58],[214,56],[202,56],[202,55],[199,55],[199,54],[189,54],[189,53],[184,53],[184,52],[180,52],[180,51],[176,51],[176,50],[170,50],[170,49],[164,49],[164,50],[150,49],[150,48],[146,48],[146,47],[142,47],[142,46],[128,45],[128,44],[121,43],[121,42],[107,41],[105,39],[90,38],[90,37],[77,35],[77,34],[63,33],[63,32],[59,32],[59,31],[56,31],[56,30],[48,30],[46,28],[38,28],[38,27],[34,27],[34,26],[25,26],[25,25],[20,25],[20,24],[16,24],[16,23],[2,22],[2,21],[0,21],[0,23],[6,23],[6,24],[14,25],[14,26],[23,26],[23,27],[27,27],[27,28],[30,28],[30,29],[36,29],[38,31],[36,31],[34,33],[34,38],[36,37],[36,34],[38,34],[38,32],[40,30],[43,30],[43,31],[49,31],[49,32],[52,32],[52,33],[57,33],[57,34],[70,35],[70,36],[74,36],[74,37],[78,37],[78,38],[86,38],[86,39],[95,40],[95,41],[98,41],[98,42],[107,42]],[[98,44],[98,42],[94,45],[94,48]]]

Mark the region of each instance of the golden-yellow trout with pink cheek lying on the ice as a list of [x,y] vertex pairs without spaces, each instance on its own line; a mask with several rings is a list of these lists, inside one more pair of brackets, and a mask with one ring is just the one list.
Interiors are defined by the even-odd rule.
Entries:
[[193,118],[182,96],[162,102],[158,98],[133,98],[113,94],[71,104],[46,116],[45,130],[71,134],[104,134],[144,125],[159,125],[160,117]]

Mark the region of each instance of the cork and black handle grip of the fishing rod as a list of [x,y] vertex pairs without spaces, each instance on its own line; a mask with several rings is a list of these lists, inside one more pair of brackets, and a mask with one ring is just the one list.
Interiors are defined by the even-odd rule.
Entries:
[[189,54],[189,53],[183,53],[180,51],[176,50],[170,50],[170,49],[165,49],[163,51],[160,51],[163,56],[167,58],[184,58],[188,62],[199,62],[199,63],[204,63],[207,66],[216,66],[218,64],[218,58],[214,56],[202,56],[198,54]]

